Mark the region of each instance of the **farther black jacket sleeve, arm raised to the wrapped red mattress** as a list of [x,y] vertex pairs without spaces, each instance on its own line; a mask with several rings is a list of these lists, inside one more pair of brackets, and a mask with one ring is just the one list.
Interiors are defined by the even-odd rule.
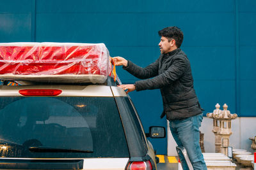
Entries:
[[154,76],[157,76],[158,74],[158,62],[159,59],[157,59],[155,62],[152,64],[148,65],[147,67],[140,67],[128,60],[127,66],[124,67],[126,71],[131,73],[132,75],[136,76],[136,78],[140,79],[146,79],[146,78],[152,78]]

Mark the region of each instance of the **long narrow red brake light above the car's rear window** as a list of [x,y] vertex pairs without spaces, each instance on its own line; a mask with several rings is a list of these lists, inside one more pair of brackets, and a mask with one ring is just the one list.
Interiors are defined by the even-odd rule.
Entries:
[[22,96],[58,96],[62,90],[59,89],[22,89],[19,94]]

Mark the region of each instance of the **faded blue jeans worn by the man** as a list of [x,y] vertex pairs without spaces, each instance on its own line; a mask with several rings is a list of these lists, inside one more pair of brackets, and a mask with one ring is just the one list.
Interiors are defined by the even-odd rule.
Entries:
[[[170,120],[172,136],[178,146],[186,148],[190,162],[195,170],[207,169],[199,144],[199,127],[202,119],[203,113],[182,120]],[[182,168],[187,170],[188,166],[184,157],[182,155],[179,155],[179,157],[182,162]]]

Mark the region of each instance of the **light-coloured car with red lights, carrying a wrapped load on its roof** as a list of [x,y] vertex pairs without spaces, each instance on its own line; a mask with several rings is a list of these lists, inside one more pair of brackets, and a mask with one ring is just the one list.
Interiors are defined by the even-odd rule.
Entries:
[[0,169],[157,169],[147,138],[165,138],[165,129],[145,134],[113,77],[7,84],[0,85]]

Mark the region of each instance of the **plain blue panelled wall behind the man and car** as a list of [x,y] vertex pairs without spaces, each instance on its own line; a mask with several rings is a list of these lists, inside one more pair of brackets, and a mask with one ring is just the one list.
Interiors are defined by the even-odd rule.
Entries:
[[[255,0],[0,0],[0,42],[105,43],[111,56],[147,66],[159,56],[157,31],[177,25],[204,113],[216,103],[255,117]],[[137,79],[117,69],[123,83]],[[130,94],[145,130],[160,119],[159,90]],[[166,153],[166,139],[150,139]]]

